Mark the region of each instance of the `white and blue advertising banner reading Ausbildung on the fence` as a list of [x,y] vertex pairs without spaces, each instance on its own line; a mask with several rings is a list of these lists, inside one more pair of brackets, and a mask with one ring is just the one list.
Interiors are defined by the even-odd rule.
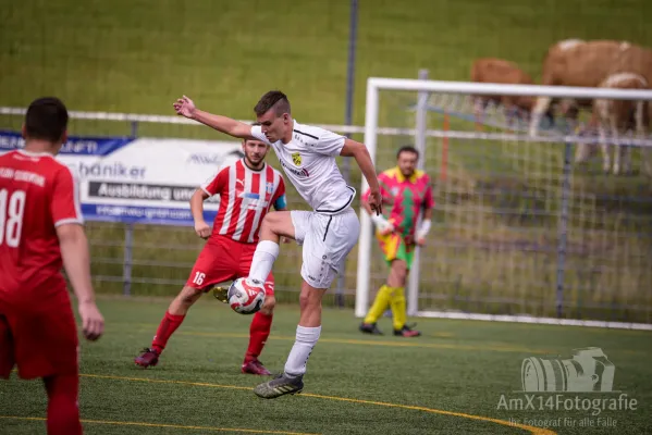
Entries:
[[[0,153],[23,146],[19,133],[0,132]],[[236,141],[71,137],[57,159],[79,179],[86,220],[192,225],[188,201],[195,189],[242,156]],[[207,222],[218,201],[205,201]]]

